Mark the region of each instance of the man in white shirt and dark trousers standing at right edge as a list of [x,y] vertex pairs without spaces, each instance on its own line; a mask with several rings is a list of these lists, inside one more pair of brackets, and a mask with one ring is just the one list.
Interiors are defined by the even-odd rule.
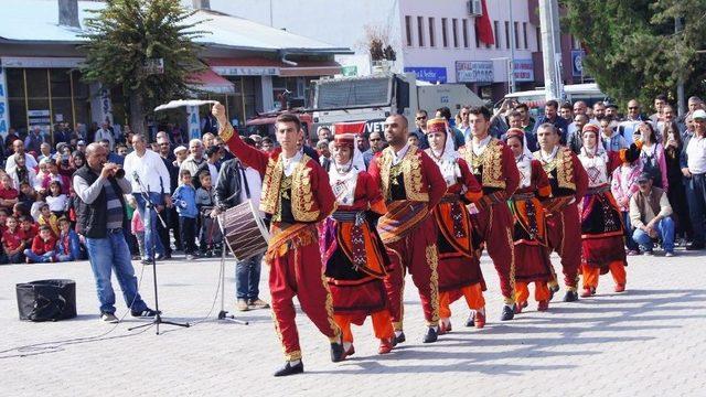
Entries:
[[706,229],[706,111],[696,109],[694,136],[684,141],[682,173],[685,178],[694,240],[686,249],[704,249]]

